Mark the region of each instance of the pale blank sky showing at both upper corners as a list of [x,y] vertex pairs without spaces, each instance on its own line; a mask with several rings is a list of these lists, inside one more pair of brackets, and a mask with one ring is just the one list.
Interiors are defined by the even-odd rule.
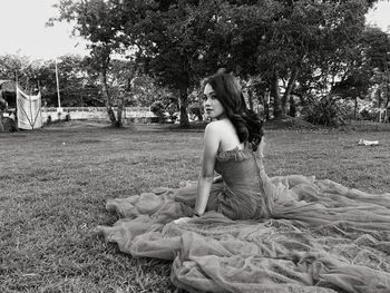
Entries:
[[[45,23],[58,14],[58,0],[0,0],[0,55],[17,53],[31,59],[55,59],[62,55],[87,55],[86,42],[71,37],[71,25]],[[368,23],[390,32],[390,1],[380,1],[368,13]]]

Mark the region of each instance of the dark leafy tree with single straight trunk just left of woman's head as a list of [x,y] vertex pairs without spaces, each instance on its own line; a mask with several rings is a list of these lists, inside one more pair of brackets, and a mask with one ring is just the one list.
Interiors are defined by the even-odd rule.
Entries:
[[[147,13],[126,26],[146,71],[162,86],[178,91],[181,125],[187,127],[188,94],[204,74],[215,72],[216,61],[204,58],[215,4],[209,1],[150,1]],[[133,21],[133,20],[129,20]],[[136,28],[136,29],[134,29]]]

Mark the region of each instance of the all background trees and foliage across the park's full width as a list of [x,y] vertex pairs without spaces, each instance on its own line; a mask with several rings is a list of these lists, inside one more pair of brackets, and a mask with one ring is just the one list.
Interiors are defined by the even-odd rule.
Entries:
[[[250,107],[261,105],[265,119],[310,117],[322,111],[320,100],[352,100],[354,118],[362,110],[378,118],[374,113],[389,107],[390,39],[365,26],[376,2],[59,1],[60,16],[49,23],[74,20],[75,33],[91,49],[86,58],[59,58],[64,102],[105,105],[113,126],[120,127],[124,106],[159,100],[188,126],[188,113],[198,108],[192,92],[199,92],[203,77],[224,69],[241,78]],[[39,84],[48,105],[56,105],[53,61],[0,61],[1,78],[18,77],[25,88]],[[358,100],[372,101],[370,109]],[[334,107],[328,104],[322,115],[340,120]]]

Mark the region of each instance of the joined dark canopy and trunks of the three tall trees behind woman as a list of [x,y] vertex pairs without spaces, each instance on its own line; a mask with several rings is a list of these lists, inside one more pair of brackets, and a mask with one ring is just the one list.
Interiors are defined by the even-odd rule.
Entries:
[[[89,40],[90,66],[98,72],[111,121],[116,118],[107,76],[113,56],[120,55],[133,61],[133,78],[148,74],[157,85],[178,92],[181,123],[186,126],[189,92],[220,68],[256,79],[257,90],[251,92],[270,94],[274,117],[287,115],[291,95],[303,97],[326,90],[329,85],[339,89],[353,85],[364,92],[368,71],[360,69],[370,66],[384,71],[384,64],[373,58],[379,53],[372,51],[374,47],[364,51],[372,56],[370,64],[353,60],[364,42],[364,16],[376,2],[60,1],[57,20],[76,21],[75,33]],[[335,85],[338,79],[344,85]]]

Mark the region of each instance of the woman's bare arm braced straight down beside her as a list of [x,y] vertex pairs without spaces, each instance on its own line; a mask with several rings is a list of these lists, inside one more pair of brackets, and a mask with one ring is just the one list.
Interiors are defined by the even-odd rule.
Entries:
[[206,126],[202,170],[197,180],[195,212],[202,215],[207,205],[209,191],[214,180],[215,156],[220,147],[218,125],[211,123]]

